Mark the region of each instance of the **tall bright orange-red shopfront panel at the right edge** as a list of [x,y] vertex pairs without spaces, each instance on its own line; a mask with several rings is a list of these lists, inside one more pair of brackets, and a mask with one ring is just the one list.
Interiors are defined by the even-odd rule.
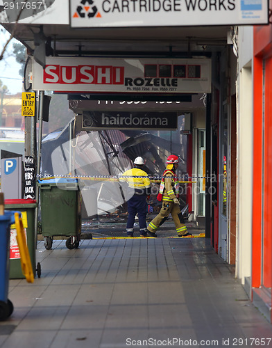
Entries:
[[255,26],[254,28],[253,67],[254,146],[252,287],[264,286],[266,288],[271,288],[272,26]]

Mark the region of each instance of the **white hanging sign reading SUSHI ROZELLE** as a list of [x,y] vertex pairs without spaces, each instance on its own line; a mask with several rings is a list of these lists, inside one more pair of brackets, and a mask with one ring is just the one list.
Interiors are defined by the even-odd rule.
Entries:
[[46,58],[33,90],[114,94],[210,93],[210,59]]

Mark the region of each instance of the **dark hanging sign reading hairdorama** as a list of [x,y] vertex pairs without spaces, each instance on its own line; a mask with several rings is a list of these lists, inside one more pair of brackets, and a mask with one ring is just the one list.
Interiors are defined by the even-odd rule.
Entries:
[[175,112],[83,111],[83,129],[176,129]]

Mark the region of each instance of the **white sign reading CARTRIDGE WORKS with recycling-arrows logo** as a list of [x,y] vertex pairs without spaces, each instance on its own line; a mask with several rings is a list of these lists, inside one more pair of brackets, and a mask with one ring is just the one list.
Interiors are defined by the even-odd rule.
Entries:
[[268,24],[266,0],[69,0],[72,28]]

